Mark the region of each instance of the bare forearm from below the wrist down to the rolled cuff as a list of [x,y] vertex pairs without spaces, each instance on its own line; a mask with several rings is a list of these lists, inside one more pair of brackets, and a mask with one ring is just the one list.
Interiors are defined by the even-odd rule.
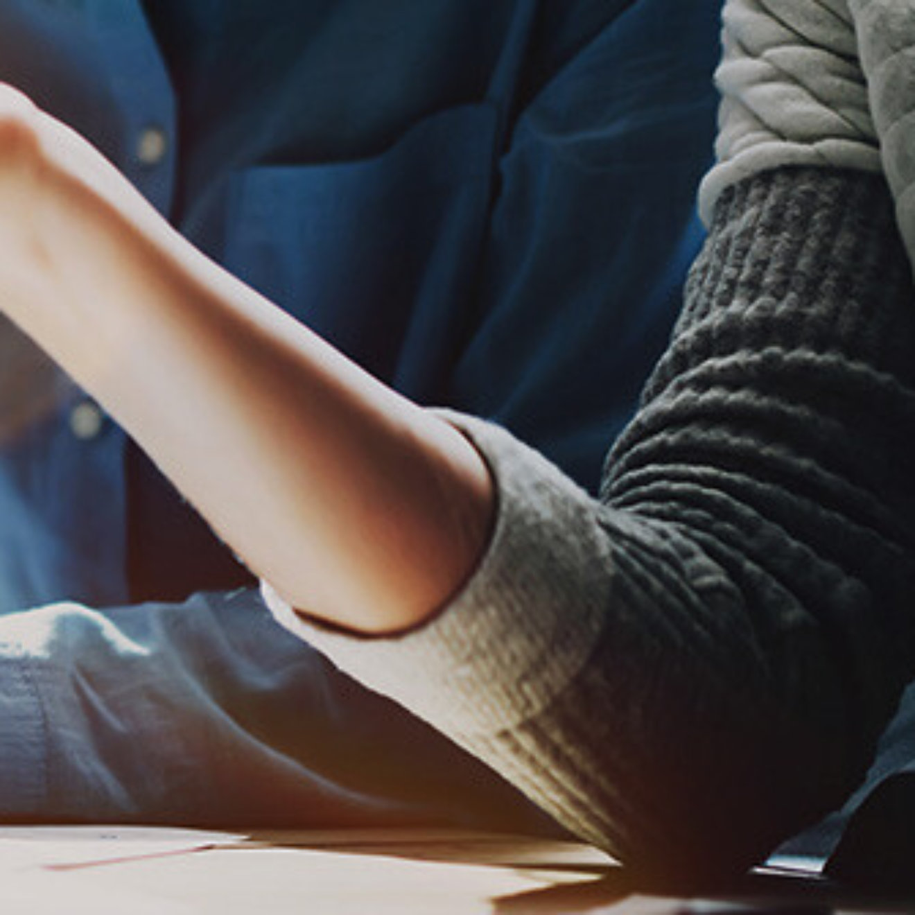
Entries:
[[44,279],[11,317],[296,607],[359,630],[435,612],[488,533],[475,449],[194,250],[78,137],[32,127],[21,269]]

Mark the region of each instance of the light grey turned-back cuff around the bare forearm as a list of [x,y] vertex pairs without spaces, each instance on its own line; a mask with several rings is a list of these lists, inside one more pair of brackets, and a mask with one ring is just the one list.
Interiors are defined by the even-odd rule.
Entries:
[[594,501],[496,425],[441,411],[478,447],[498,490],[489,547],[425,626],[359,638],[303,619],[270,587],[286,629],[363,684],[449,734],[496,732],[538,714],[587,661],[608,595]]

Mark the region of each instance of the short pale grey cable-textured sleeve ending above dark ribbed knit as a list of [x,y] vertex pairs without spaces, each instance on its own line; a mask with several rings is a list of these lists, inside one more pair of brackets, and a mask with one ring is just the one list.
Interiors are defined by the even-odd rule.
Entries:
[[848,0],[727,0],[723,17],[718,164],[699,193],[706,222],[725,188],[763,169],[880,171]]

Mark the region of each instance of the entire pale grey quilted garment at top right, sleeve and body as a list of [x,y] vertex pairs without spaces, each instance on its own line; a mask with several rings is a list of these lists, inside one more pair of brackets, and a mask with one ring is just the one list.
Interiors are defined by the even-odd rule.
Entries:
[[882,169],[915,264],[915,0],[727,0],[722,39],[705,220],[762,169]]

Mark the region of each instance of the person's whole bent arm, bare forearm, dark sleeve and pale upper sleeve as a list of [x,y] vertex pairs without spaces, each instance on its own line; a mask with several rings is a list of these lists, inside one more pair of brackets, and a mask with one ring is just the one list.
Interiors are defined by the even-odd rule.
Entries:
[[[668,875],[748,867],[843,802],[915,662],[915,307],[856,57],[873,33],[838,0],[733,0],[725,23],[708,241],[599,499],[372,380],[28,102],[0,118],[4,209],[38,202],[41,230],[0,230],[6,313],[288,629]],[[160,404],[188,390],[179,436]]]

